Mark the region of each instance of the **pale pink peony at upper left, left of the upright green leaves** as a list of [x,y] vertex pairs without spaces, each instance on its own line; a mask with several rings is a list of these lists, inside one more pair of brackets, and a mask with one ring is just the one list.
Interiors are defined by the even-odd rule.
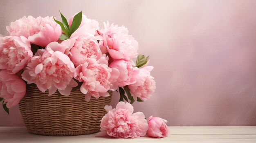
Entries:
[[25,36],[31,43],[39,46],[46,46],[50,42],[57,41],[62,31],[61,26],[57,24],[53,17],[23,17],[15,22],[11,22],[6,27],[8,35]]

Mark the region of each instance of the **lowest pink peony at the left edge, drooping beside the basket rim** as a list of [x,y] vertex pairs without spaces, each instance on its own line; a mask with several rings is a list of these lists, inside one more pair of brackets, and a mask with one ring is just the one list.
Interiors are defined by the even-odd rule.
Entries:
[[25,82],[18,75],[9,74],[7,70],[0,71],[0,97],[7,102],[7,108],[16,106],[26,93]]

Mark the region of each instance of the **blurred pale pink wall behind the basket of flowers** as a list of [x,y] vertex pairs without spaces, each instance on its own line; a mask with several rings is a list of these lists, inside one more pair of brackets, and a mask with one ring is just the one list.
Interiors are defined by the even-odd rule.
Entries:
[[[157,89],[136,112],[168,125],[256,125],[255,0],[0,0],[0,33],[24,15],[60,20],[58,10],[123,24],[150,55]],[[0,126],[24,125],[18,107],[10,114],[0,108]]]

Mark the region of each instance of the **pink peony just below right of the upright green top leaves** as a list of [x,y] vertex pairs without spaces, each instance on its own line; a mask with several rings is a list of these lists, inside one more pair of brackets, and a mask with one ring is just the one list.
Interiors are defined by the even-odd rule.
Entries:
[[[74,38],[73,38],[74,39]],[[101,58],[101,50],[95,37],[91,34],[75,38],[74,46],[70,50],[70,59],[75,66],[83,64],[87,58]]]

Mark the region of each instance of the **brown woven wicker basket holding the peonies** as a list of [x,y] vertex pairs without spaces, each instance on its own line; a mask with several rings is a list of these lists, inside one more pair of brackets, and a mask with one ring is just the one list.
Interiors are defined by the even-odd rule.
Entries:
[[28,132],[47,136],[72,136],[92,134],[100,131],[100,120],[107,113],[110,96],[85,101],[80,90],[71,91],[69,96],[58,93],[48,96],[38,88],[29,88],[19,103],[20,113]]

